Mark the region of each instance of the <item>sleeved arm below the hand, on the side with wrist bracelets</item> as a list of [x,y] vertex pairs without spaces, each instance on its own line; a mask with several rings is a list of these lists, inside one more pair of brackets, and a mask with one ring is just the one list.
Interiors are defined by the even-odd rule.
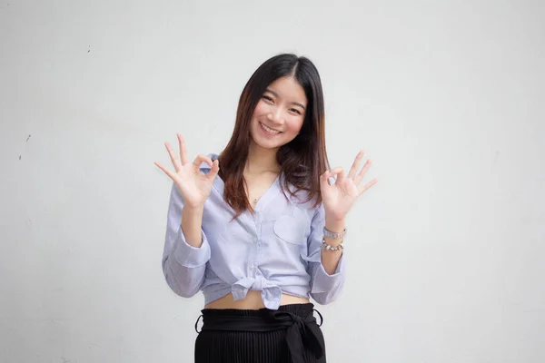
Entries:
[[[342,223],[344,223],[342,221]],[[332,225],[330,225],[332,224]],[[344,285],[344,263],[342,250],[322,249],[323,226],[327,225],[336,231],[329,218],[325,217],[323,204],[320,204],[311,222],[311,234],[308,239],[309,274],[311,275],[311,296],[319,304],[325,305],[337,299]],[[342,228],[344,228],[342,226]],[[327,239],[328,243],[334,242]],[[340,243],[340,240],[337,242]],[[306,259],[305,259],[306,260]]]

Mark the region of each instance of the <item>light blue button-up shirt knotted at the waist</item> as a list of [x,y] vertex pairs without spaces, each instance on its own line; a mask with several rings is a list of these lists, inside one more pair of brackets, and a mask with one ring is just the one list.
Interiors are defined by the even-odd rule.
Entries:
[[[218,155],[209,155],[213,160]],[[203,162],[201,172],[210,172]],[[328,304],[344,283],[344,257],[329,275],[322,265],[325,215],[322,203],[302,203],[281,190],[282,173],[254,207],[236,220],[223,200],[223,181],[216,176],[204,203],[203,243],[190,246],[181,221],[183,199],[173,184],[163,250],[163,273],[168,286],[185,298],[203,290],[205,304],[233,293],[244,299],[249,289],[262,291],[263,304],[278,309],[282,293]],[[304,195],[302,195],[304,196]]]

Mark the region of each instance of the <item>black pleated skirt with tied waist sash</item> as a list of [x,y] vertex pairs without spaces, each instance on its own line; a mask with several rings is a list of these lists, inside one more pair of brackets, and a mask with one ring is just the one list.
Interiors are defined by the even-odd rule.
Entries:
[[312,303],[278,310],[203,309],[195,363],[325,363],[313,311]]

